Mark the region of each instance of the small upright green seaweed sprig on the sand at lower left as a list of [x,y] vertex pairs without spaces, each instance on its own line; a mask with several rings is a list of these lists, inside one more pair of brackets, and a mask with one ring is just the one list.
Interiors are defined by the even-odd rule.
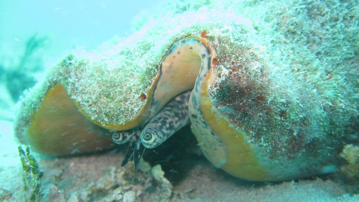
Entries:
[[19,146],[18,149],[23,165],[25,201],[39,201],[42,198],[40,189],[41,178],[44,172],[39,169],[36,159],[30,154],[30,146],[26,147],[26,153],[21,146]]

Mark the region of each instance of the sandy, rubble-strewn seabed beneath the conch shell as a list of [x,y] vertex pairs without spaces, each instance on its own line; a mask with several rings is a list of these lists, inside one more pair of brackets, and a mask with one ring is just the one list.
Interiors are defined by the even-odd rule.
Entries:
[[[13,123],[2,120],[0,125],[0,201],[24,201]],[[121,167],[124,154],[117,149],[66,158],[34,155],[45,173],[42,201],[359,201],[359,195],[349,194],[346,185],[331,180],[248,182],[205,159],[196,160],[171,184],[159,166],[151,169],[142,162],[134,171],[130,161]]]

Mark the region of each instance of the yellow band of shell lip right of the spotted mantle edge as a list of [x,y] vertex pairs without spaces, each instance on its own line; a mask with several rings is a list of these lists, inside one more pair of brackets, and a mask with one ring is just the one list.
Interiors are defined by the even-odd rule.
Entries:
[[[244,140],[246,134],[243,130],[235,129],[228,118],[220,114],[217,109],[211,107],[211,101],[206,96],[204,86],[201,96],[202,113],[213,132],[222,140],[227,150],[225,164],[221,167],[227,173],[242,179],[266,180],[272,179],[265,171],[265,167],[258,162],[258,153]],[[205,146],[202,146],[205,147]]]

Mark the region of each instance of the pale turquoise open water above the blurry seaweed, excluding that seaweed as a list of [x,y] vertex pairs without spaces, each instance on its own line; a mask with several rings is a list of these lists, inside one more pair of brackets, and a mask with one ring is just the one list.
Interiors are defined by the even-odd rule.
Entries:
[[[141,10],[156,1],[1,1],[1,52],[20,55],[29,38],[46,37],[46,51],[51,60],[67,49],[84,46],[95,49],[115,35],[132,33],[131,22]],[[57,61],[56,61],[57,62]]]

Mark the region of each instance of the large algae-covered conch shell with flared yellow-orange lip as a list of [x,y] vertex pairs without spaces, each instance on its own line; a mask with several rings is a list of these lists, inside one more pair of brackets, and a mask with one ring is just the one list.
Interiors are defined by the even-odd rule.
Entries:
[[[74,52],[20,101],[19,138],[46,155],[109,148],[111,137],[103,128],[143,125],[193,88],[192,131],[216,167],[258,181],[334,171],[345,141],[358,141],[355,79],[343,69],[324,76],[327,69],[311,60],[317,56],[307,45],[297,44],[305,54],[290,52],[277,35],[261,33],[258,24],[255,29],[231,10],[225,13],[177,14],[176,23],[158,19],[101,54]],[[346,88],[338,84],[343,79]],[[76,119],[69,113],[57,119],[65,104],[48,100],[63,100],[81,113],[66,108],[77,112]],[[48,105],[56,113],[42,110]]]

